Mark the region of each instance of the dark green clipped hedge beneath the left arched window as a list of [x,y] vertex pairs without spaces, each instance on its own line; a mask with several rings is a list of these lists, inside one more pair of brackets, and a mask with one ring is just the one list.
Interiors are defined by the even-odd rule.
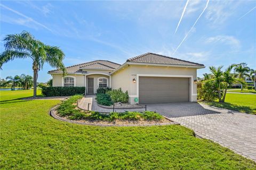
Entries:
[[85,87],[42,87],[42,94],[46,97],[73,96],[84,92]]

